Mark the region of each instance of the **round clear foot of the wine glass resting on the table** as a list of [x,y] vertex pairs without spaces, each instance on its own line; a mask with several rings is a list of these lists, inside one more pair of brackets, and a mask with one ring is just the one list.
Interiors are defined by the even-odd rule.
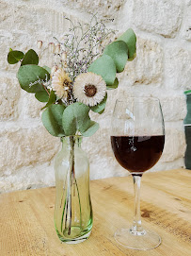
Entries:
[[161,244],[161,237],[151,230],[133,232],[130,229],[120,229],[116,231],[114,237],[120,246],[132,249],[147,250]]

